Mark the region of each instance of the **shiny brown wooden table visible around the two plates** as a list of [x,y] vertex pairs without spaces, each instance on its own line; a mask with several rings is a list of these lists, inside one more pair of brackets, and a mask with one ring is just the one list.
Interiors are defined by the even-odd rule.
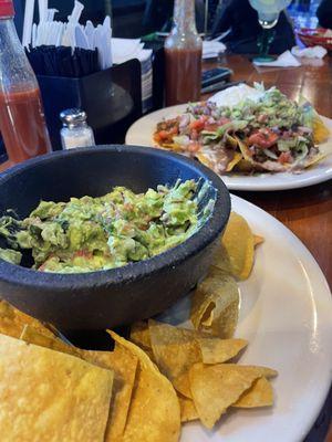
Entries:
[[[222,65],[234,71],[231,81],[263,82],[276,85],[290,98],[305,96],[317,110],[332,118],[332,57],[308,61],[310,64],[294,69],[259,69],[242,55],[225,55],[218,63],[205,64],[204,69]],[[332,180],[304,189],[273,192],[234,192],[271,213],[287,225],[310,250],[332,287]],[[332,339],[332,338],[331,338]],[[318,379],[319,381],[319,379]],[[332,442],[332,394],[317,424],[305,441]]]

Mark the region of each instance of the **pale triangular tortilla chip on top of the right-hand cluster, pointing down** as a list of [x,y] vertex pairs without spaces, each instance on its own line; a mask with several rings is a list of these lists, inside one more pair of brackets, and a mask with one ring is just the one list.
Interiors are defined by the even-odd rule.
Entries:
[[203,424],[211,429],[227,408],[234,404],[256,379],[274,375],[274,370],[266,367],[235,364],[193,366],[189,370],[190,389]]

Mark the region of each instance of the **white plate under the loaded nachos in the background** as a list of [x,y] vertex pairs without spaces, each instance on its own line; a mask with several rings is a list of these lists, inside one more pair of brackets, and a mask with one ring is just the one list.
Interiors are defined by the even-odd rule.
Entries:
[[[178,105],[156,110],[135,122],[126,134],[126,144],[136,146],[154,146],[153,134],[157,123],[163,118],[172,118],[186,110],[187,105]],[[322,117],[332,134],[332,119]],[[328,157],[301,173],[258,173],[241,176],[237,173],[225,175],[222,180],[231,190],[284,190],[295,189],[328,181],[332,178],[332,135],[330,139],[320,145],[320,150]]]

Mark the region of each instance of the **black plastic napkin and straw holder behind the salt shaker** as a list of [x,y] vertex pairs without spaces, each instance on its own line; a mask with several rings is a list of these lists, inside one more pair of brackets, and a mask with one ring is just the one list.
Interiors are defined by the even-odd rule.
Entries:
[[61,149],[59,115],[63,109],[79,107],[85,110],[98,145],[123,143],[127,128],[142,115],[138,60],[81,78],[37,77],[53,150]]

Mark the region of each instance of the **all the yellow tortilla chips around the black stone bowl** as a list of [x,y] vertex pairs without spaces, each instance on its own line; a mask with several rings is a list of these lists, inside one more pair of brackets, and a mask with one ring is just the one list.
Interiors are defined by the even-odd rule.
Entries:
[[211,429],[229,408],[271,406],[269,378],[277,372],[234,360],[248,344],[232,338],[236,278],[248,277],[262,241],[232,213],[193,295],[195,329],[149,319],[132,326],[131,340],[110,332],[113,351],[71,346],[0,301],[0,434],[27,442],[176,442],[181,423],[199,419]]

